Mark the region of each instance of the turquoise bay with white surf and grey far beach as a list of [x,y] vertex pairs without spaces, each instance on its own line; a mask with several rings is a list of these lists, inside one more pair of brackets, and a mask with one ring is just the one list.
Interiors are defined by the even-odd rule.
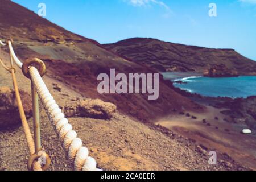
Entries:
[[[164,80],[172,82],[175,90],[178,88],[181,92],[184,91],[189,93],[184,93],[185,96],[195,94],[199,97],[232,99],[246,99],[256,96],[254,88],[250,86],[250,84],[242,84],[243,82],[252,82],[255,84],[254,76],[204,77],[203,74],[195,72],[166,72],[161,74],[163,75]],[[202,86],[205,86],[205,89]],[[247,91],[245,91],[242,89],[243,86],[248,90],[246,89]],[[236,89],[237,92],[232,91]]]

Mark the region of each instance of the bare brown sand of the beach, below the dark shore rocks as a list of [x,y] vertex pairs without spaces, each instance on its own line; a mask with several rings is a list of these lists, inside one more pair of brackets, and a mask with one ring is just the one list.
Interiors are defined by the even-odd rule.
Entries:
[[[203,114],[189,113],[197,117],[196,119],[185,115],[175,115],[161,119],[156,124],[194,139],[207,148],[226,153],[238,162],[255,170],[256,136],[241,134],[242,129],[246,126],[227,123],[224,121],[227,117],[220,111],[221,109],[207,106],[207,111]],[[203,122],[203,119],[206,122]]]

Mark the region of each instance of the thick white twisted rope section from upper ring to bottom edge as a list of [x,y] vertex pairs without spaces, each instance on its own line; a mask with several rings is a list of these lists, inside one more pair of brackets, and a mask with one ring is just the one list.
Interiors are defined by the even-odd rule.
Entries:
[[35,67],[28,69],[30,72],[31,81],[35,85],[39,98],[42,101],[44,109],[52,123],[61,144],[68,155],[68,159],[73,164],[76,171],[96,171],[96,161],[89,157],[89,151],[86,147],[82,147],[82,141],[77,138],[76,131],[72,130],[72,126],[68,123],[68,119],[59,109],[55,100],[49,93],[46,84],[39,75]]

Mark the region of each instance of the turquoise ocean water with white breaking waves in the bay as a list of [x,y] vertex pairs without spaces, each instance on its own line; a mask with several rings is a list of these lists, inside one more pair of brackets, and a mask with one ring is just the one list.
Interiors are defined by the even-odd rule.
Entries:
[[209,78],[199,75],[187,75],[187,77],[176,75],[179,73],[163,73],[166,80],[185,82],[185,84],[174,84],[177,88],[202,96],[232,98],[256,96],[256,76]]

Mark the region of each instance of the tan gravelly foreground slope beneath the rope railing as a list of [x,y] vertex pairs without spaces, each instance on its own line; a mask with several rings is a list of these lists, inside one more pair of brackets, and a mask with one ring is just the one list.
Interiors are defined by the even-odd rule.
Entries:
[[[9,65],[8,54],[2,52],[0,59]],[[20,69],[16,72],[20,90],[30,93],[30,80]],[[43,77],[51,94],[61,106],[73,106],[85,97],[50,74]],[[11,75],[0,67],[0,87],[12,88]],[[172,131],[127,117],[119,112],[110,120],[92,118],[68,118],[78,136],[96,159],[97,167],[104,170],[245,170],[228,155],[218,153],[218,165],[208,164],[211,148],[175,135]],[[40,105],[42,146],[52,160],[50,170],[71,170],[65,159],[59,139]],[[32,119],[28,119],[32,131]],[[27,170],[28,149],[22,127],[0,126],[0,170]]]

